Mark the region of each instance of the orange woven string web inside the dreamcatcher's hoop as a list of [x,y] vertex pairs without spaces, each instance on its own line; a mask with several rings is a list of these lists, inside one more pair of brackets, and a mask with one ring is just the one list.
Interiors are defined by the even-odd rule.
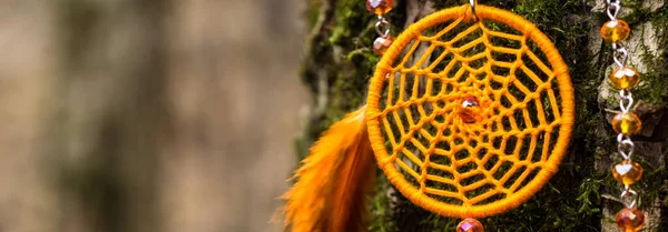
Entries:
[[[420,193],[475,206],[525,186],[554,150],[556,74],[540,48],[503,23],[451,20],[415,34],[387,70],[380,130],[392,163]],[[479,120],[462,121],[462,99]]]

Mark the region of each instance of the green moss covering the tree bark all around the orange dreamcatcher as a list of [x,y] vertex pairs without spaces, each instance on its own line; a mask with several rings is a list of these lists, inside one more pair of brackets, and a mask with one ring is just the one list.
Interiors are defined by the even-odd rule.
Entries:
[[[315,58],[305,61],[324,70],[328,80],[328,102],[322,115],[315,115],[306,135],[297,143],[304,151],[328,125],[340,120],[346,112],[365,101],[369,78],[372,75],[379,57],[370,50],[376,37],[373,30],[375,16],[364,9],[358,0],[335,2],[333,19],[325,26],[322,40],[313,50]],[[435,9],[461,4],[454,0],[434,0]],[[640,0],[625,1],[632,12],[625,14],[631,27],[650,21],[660,30],[659,54],[650,54],[645,47],[644,63],[648,70],[642,73],[642,84],[635,90],[635,97],[655,105],[668,102],[668,6],[655,12],[642,9]],[[605,118],[605,109],[598,103],[598,88],[605,71],[611,64],[611,52],[601,43],[600,53],[590,53],[589,31],[598,28],[607,19],[605,13],[591,13],[591,7],[581,0],[490,0],[485,4],[510,10],[538,26],[556,44],[569,67],[576,90],[576,127],[571,145],[558,172],[546,188],[534,198],[508,213],[481,220],[487,231],[600,231],[601,205],[606,201],[601,193],[617,193],[619,186],[607,172],[597,171],[595,162],[610,159],[616,141]],[[389,14],[394,26],[403,26],[405,1]],[[393,31],[401,29],[393,28]],[[323,52],[326,51],[326,52]],[[323,56],[324,54],[324,56]],[[324,58],[323,58],[324,57]],[[313,79],[305,79],[314,85]],[[302,152],[305,154],[305,152]],[[647,161],[640,160],[644,167]],[[668,173],[665,168],[647,170],[641,183],[644,199],[656,199],[661,189],[652,184],[661,182]],[[396,191],[379,171],[375,194],[371,203],[371,231],[453,231],[459,223],[415,206]],[[664,190],[666,191],[666,190]],[[389,192],[391,193],[389,195]],[[648,206],[645,204],[644,206]],[[668,222],[665,222],[668,224]]]

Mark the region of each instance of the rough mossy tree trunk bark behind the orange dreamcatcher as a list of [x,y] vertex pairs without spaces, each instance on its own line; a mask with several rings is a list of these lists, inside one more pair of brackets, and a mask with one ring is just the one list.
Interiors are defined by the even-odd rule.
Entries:
[[[375,32],[374,16],[358,0],[314,0],[308,13],[312,33],[307,40],[303,80],[314,93],[311,121],[298,141],[302,158],[318,133],[365,101],[369,77],[379,58],[370,50]],[[400,0],[389,14],[393,32],[433,10],[463,1]],[[605,1],[511,0],[480,1],[513,11],[536,23],[554,42],[569,65],[576,89],[576,128],[560,172],[529,202],[505,214],[481,220],[487,231],[616,231],[613,214],[621,205],[607,195],[618,195],[620,185],[609,168],[619,160],[609,124],[619,110],[616,92],[608,83],[612,54],[599,36],[608,20]],[[646,231],[668,228],[668,4],[664,0],[622,1],[621,18],[629,22],[630,62],[642,81],[633,89],[636,112],[644,120],[635,159],[645,169],[635,185],[641,192],[640,208]],[[455,219],[424,211],[395,192],[379,171],[372,231],[454,231]],[[662,230],[661,230],[662,229]]]

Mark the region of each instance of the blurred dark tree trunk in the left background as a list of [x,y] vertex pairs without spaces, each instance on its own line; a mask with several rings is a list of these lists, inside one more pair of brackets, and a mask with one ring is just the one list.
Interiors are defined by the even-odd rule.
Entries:
[[170,141],[166,98],[168,0],[61,0],[63,97],[49,152],[59,155],[61,231],[163,231],[159,144]]

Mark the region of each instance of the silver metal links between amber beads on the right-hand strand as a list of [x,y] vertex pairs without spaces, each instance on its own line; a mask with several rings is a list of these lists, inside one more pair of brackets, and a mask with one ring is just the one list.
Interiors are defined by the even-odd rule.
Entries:
[[[606,0],[608,9],[608,17],[611,21],[617,21],[617,16],[621,10],[620,0]],[[627,67],[629,61],[629,51],[620,42],[612,43],[612,59],[618,69]],[[622,114],[629,113],[633,105],[633,94],[630,89],[622,89],[619,91],[619,108]],[[619,133],[617,134],[617,151],[625,161],[630,161],[633,155],[636,144],[631,141],[629,134]],[[639,194],[629,184],[623,185],[623,191],[619,196],[619,201],[625,204],[626,208],[631,209],[638,204]]]

